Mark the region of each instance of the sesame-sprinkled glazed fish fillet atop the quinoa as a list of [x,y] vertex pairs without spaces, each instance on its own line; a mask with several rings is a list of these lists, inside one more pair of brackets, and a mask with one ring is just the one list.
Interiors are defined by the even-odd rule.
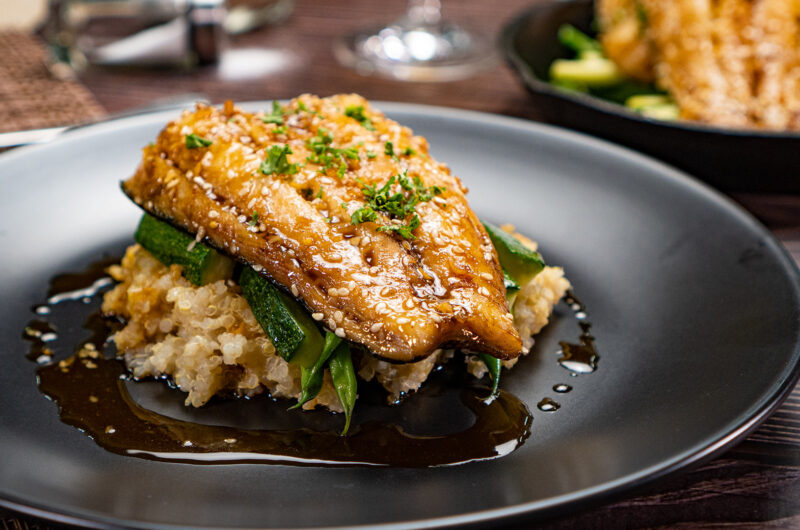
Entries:
[[[346,115],[357,107],[374,130]],[[381,358],[410,362],[444,346],[520,355],[494,247],[467,189],[429,155],[424,138],[357,95],[300,96],[285,107],[284,130],[264,116],[231,102],[184,112],[144,148],[123,190],[151,214],[253,266],[316,320]],[[320,132],[336,148],[358,150],[341,177],[307,159],[308,142]],[[190,134],[212,143],[187,148]],[[296,174],[259,170],[275,145],[290,147]],[[383,213],[375,222],[351,222],[366,203],[363,185],[380,187],[405,172],[445,188],[417,204],[413,239],[378,231],[392,222]]]

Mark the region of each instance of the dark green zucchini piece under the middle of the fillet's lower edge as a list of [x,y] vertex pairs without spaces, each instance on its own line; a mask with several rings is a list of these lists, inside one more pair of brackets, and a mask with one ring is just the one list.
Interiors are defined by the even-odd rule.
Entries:
[[305,308],[250,267],[242,270],[239,286],[278,354],[301,368],[312,368],[325,341]]

